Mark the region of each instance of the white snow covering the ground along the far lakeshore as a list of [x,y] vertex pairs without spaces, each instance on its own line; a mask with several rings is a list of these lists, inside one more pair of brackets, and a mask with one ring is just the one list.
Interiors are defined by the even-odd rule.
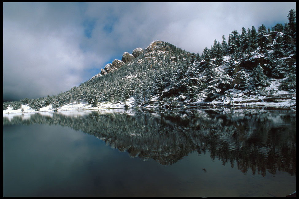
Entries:
[[[270,92],[272,91],[272,94],[288,94],[289,92],[287,91],[278,91],[278,86],[279,86],[279,81],[278,80],[274,80],[271,81],[271,85],[269,87],[266,88],[266,92]],[[269,106],[269,107],[293,107],[296,109],[296,97],[294,97],[293,99],[290,100],[282,100],[281,102],[264,102],[263,99],[265,98],[265,96],[261,96],[259,94],[257,95],[251,95],[251,96],[247,96],[247,91],[241,91],[241,90],[237,90],[237,89],[230,89],[229,91],[229,95],[231,96],[230,98],[227,97],[222,97],[221,100],[217,99],[217,101],[212,101],[212,102],[204,102],[205,96],[201,96],[201,99],[199,99],[197,102],[193,103],[193,104],[209,104],[209,103],[222,103],[222,105],[229,105],[231,102],[234,101],[239,101],[239,102],[244,102],[244,101],[248,101],[248,100],[262,100],[262,102],[248,102],[248,103],[239,103],[236,104],[234,103],[234,106],[250,106],[250,107],[255,107],[255,106]],[[246,98],[244,98],[244,96]],[[152,100],[157,100],[158,96],[155,97],[155,99]],[[123,112],[125,105],[128,108],[132,108],[134,106],[135,100],[134,98],[131,96],[126,103],[124,102],[118,102],[118,103],[109,103],[109,102],[101,102],[99,103],[99,105],[97,107],[91,107],[91,104],[88,104],[86,101],[81,100],[79,101],[79,103],[77,102],[73,102],[73,103],[69,103],[66,104],[62,107],[58,108],[58,112],[63,113],[63,114],[71,114],[72,116],[75,115],[80,115],[80,114],[87,114],[86,110],[101,110],[102,113],[109,113],[112,110],[109,109],[119,109],[119,110],[113,110],[113,112]],[[232,105],[232,104],[231,104]],[[146,106],[148,107],[152,107],[150,105]],[[24,109],[24,111],[21,111],[21,109]],[[48,114],[49,116],[51,116],[53,114],[54,109],[52,108],[52,105],[49,105],[47,107],[42,107],[40,108],[40,111],[34,111],[34,109],[30,109],[30,107],[28,105],[22,105],[21,109],[17,109],[17,110],[13,110],[12,107],[8,107],[8,109],[3,110],[3,115],[7,116],[7,115],[22,115],[23,117],[26,117],[25,113],[42,113],[44,114]],[[72,112],[69,112],[72,111]]]

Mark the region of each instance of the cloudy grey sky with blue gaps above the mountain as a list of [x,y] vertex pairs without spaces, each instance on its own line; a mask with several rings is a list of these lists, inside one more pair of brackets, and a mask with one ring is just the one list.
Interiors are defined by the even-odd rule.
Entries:
[[288,22],[296,2],[3,2],[3,100],[57,95],[162,40],[201,54],[242,27]]

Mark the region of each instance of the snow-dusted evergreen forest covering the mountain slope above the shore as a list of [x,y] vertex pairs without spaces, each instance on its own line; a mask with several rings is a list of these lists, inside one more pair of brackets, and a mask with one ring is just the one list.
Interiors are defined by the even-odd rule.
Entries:
[[[8,106],[19,109],[22,104],[34,110],[49,104],[57,109],[80,100],[95,107],[102,101],[125,102],[130,96],[134,97],[136,106],[144,103],[160,106],[169,101],[175,104],[186,99],[192,102],[202,96],[211,101],[231,88],[236,78],[240,78],[238,89],[256,91],[268,86],[270,78],[285,78],[279,89],[296,92],[296,12],[293,9],[288,19],[288,23],[268,29],[261,25],[258,30],[254,26],[247,30],[243,27],[241,34],[234,30],[228,42],[225,36],[221,43],[215,39],[213,46],[205,47],[201,55],[163,42],[166,46],[163,54],[154,51],[147,56],[149,52],[145,49],[133,62],[113,73],[94,77],[58,95],[4,102],[3,110]],[[245,63],[255,57],[268,61],[234,72],[236,62]],[[229,59],[228,65],[225,62],[228,67],[220,70],[224,58]],[[158,97],[158,101],[152,102],[153,97]]]

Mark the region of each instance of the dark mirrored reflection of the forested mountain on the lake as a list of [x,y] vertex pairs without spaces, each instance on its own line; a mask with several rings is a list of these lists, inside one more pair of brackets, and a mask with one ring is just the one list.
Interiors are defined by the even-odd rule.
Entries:
[[[131,157],[170,165],[191,152],[208,151],[212,160],[231,164],[243,173],[251,170],[286,171],[296,176],[296,112],[266,110],[130,109],[121,113],[92,111],[76,117],[61,113],[36,113],[24,119],[3,117],[9,124],[58,124],[81,130]],[[206,170],[203,169],[205,172]]]

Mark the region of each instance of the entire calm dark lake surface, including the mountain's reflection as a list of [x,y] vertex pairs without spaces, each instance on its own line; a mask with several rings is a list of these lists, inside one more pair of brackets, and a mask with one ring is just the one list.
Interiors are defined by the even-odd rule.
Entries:
[[286,196],[296,112],[128,110],[3,117],[3,196]]

